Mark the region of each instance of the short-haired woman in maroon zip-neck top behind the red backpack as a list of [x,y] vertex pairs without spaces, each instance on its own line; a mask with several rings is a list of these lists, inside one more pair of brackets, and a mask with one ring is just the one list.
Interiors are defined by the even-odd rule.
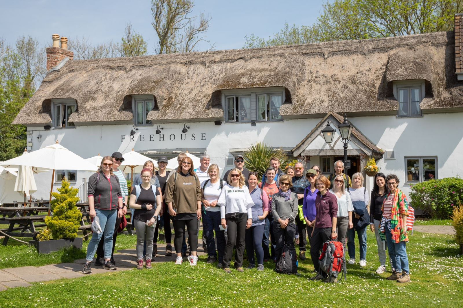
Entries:
[[319,257],[320,249],[323,243],[338,237],[336,234],[336,224],[338,222],[338,199],[336,195],[330,193],[331,182],[324,175],[320,175],[316,181],[318,188],[317,197],[315,198],[315,225],[312,231],[312,242],[310,243],[310,255],[312,257],[313,267],[317,271],[317,276],[312,280],[325,279],[325,282],[336,282],[337,278],[332,277],[330,280],[327,274],[320,270]]

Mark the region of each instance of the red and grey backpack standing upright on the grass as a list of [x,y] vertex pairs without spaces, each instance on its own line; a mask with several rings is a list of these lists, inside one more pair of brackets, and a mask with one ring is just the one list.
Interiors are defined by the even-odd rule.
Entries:
[[323,244],[322,253],[319,258],[320,269],[327,273],[330,279],[338,278],[341,273],[341,278],[344,273],[344,280],[347,280],[346,260],[344,254],[344,245],[338,240],[325,242]]

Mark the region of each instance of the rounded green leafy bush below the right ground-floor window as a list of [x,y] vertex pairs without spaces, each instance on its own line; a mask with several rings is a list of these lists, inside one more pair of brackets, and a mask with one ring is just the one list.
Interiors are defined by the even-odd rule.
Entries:
[[463,202],[463,179],[447,177],[412,186],[413,207],[422,209],[436,219],[448,219],[453,207]]

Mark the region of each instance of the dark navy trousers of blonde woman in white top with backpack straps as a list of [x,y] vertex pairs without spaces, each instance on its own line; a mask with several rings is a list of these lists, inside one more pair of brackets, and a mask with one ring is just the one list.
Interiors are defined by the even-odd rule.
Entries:
[[203,235],[206,238],[207,254],[216,258],[214,230],[217,238],[217,251],[219,252],[219,263],[224,260],[225,253],[225,232],[220,230],[220,211],[206,211],[203,214]]

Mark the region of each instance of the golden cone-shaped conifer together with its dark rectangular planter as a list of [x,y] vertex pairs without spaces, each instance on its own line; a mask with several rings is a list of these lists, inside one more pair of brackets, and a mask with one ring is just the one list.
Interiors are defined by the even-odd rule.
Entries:
[[59,193],[52,193],[55,198],[51,200],[53,216],[45,218],[48,229],[37,235],[37,241],[29,241],[39,253],[48,254],[69,246],[82,248],[82,238],[77,238],[82,218],[81,211],[75,206],[79,201],[76,197],[78,191],[77,188],[69,187],[69,181],[63,180],[58,188]]

